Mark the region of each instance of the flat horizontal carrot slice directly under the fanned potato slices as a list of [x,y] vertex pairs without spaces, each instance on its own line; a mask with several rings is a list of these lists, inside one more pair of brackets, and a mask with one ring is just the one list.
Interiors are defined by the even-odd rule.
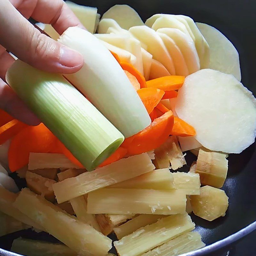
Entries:
[[163,91],[172,91],[180,89],[185,80],[185,76],[163,76],[148,80],[147,87],[154,87]]

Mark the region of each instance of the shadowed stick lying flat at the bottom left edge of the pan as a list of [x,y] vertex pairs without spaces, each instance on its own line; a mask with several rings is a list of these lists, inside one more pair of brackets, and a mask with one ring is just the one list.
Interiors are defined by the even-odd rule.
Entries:
[[12,252],[27,256],[77,256],[77,253],[64,244],[17,238],[12,242]]

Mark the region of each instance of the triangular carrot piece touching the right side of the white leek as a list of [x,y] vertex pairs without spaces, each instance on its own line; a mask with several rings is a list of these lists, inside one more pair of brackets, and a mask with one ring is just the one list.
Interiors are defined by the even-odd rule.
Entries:
[[156,88],[141,88],[137,91],[145,108],[150,114],[164,96],[164,91]]

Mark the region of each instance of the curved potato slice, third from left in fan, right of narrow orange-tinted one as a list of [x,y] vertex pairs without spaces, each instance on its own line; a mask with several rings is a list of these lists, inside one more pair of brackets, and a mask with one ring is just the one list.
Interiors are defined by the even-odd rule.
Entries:
[[180,48],[188,67],[188,73],[192,74],[200,69],[199,57],[196,47],[191,39],[185,33],[177,28],[159,28],[157,32],[164,33],[171,37],[175,44]]

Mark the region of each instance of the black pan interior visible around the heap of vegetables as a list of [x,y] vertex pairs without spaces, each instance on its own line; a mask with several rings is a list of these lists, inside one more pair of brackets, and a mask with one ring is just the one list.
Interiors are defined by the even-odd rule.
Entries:
[[[237,48],[240,54],[242,83],[256,95],[254,76],[256,68],[256,1],[74,0],[74,2],[96,6],[98,7],[98,12],[101,14],[114,4],[129,4],[136,9],[144,21],[155,13],[184,14],[192,17],[195,21],[208,23],[218,28]],[[195,157],[188,153],[186,158],[188,166],[186,166],[185,169],[188,170],[194,159]],[[223,187],[229,197],[229,208],[226,216],[208,222],[192,215],[193,220],[196,222],[196,230],[201,233],[203,241],[207,245],[236,233],[256,220],[255,144],[247,148],[242,154],[230,155],[228,160],[228,178]],[[254,224],[255,225],[251,227],[250,230],[256,228],[256,223]],[[241,236],[246,233],[247,232],[244,232]],[[32,236],[40,239],[54,240],[54,238],[44,233],[35,234],[30,231],[17,232],[16,234],[0,238],[0,247],[9,249],[12,239],[19,237],[21,234],[25,237]],[[228,243],[233,242],[232,239],[230,239]],[[203,254],[200,253],[200,255]]]

